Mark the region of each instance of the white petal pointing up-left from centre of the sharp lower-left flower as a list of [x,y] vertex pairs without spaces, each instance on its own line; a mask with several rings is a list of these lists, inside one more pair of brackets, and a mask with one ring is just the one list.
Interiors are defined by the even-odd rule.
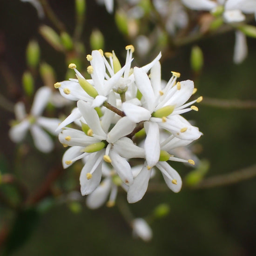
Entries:
[[101,127],[100,118],[96,110],[91,108],[90,104],[85,101],[78,101],[77,107],[79,108],[90,129],[93,130],[93,133],[95,135],[101,136],[102,140],[106,139],[106,133]]

